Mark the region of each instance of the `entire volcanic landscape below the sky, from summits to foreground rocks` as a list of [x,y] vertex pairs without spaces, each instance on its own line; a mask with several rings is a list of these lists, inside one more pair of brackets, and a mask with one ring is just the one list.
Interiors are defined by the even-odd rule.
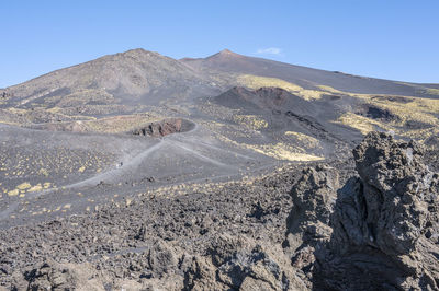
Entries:
[[439,91],[133,49],[0,90],[0,289],[438,290]]

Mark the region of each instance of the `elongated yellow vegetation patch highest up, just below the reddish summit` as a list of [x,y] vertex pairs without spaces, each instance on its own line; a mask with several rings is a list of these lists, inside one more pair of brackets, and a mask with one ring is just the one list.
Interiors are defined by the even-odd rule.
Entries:
[[281,88],[290,93],[299,95],[304,100],[318,100],[325,92],[317,90],[304,89],[300,85],[286,82],[278,78],[268,78],[254,74],[241,74],[238,77],[237,82],[250,89],[260,89],[262,86]]

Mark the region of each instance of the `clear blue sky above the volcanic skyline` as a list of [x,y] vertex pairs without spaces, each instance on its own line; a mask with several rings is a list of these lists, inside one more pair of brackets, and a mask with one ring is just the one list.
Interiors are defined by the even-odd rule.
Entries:
[[438,0],[2,1],[0,88],[103,55],[224,48],[294,65],[439,83]]

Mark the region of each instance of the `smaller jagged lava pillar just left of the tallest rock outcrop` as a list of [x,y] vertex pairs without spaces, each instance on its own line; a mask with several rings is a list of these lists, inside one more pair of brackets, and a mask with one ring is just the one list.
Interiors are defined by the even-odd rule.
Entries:
[[293,207],[286,219],[282,246],[301,281],[312,288],[315,251],[329,241],[329,218],[337,198],[339,173],[328,165],[304,168],[291,190]]

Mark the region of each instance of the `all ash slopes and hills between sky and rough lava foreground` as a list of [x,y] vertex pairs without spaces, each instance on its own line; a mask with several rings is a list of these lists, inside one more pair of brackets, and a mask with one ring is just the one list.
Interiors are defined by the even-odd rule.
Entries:
[[[340,91],[345,83],[363,93]],[[173,60],[135,49],[61,69],[0,94],[0,224],[80,213],[151,188],[344,159],[372,130],[435,149],[435,92],[227,50]],[[183,119],[193,130],[161,138],[164,120]],[[158,138],[132,136],[145,128]]]

